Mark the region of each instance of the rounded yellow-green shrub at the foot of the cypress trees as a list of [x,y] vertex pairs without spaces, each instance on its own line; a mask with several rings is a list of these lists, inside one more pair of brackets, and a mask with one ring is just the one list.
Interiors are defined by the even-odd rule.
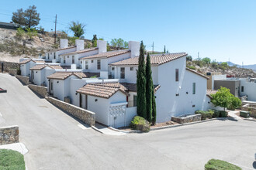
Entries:
[[144,117],[133,117],[133,121],[130,122],[130,128],[133,130],[140,130],[142,132],[150,131],[150,124],[144,119]]

